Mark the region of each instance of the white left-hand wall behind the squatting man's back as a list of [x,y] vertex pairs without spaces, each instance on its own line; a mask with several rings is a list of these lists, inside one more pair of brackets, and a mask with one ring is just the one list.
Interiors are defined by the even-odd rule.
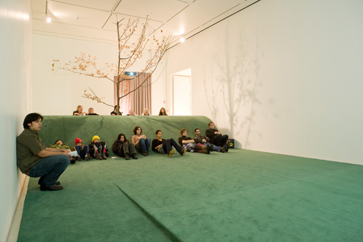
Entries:
[[0,241],[8,237],[25,175],[17,169],[16,138],[31,104],[30,0],[0,1]]

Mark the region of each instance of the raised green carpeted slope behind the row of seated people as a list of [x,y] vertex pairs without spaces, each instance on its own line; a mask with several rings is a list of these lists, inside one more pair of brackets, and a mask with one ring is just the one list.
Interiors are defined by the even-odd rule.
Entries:
[[136,126],[140,126],[142,134],[151,140],[156,138],[155,131],[160,129],[163,138],[174,138],[178,142],[180,129],[187,129],[188,136],[194,138],[194,129],[198,127],[204,133],[208,122],[211,120],[205,116],[44,116],[39,136],[46,147],[55,140],[73,147],[75,138],[89,145],[92,137],[97,135],[111,148],[119,133],[124,133],[131,142]]

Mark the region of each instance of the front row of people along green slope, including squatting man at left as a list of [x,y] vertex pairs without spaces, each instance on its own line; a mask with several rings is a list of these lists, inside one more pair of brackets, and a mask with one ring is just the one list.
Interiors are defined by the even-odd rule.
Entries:
[[[57,140],[55,145],[45,147],[43,140],[39,137],[38,131],[41,130],[44,117],[39,113],[29,113],[23,122],[24,131],[17,136],[17,166],[20,171],[30,177],[40,177],[38,184],[41,191],[58,191],[63,187],[58,178],[62,175],[66,167],[71,162],[71,149],[68,145],[63,144],[62,140]],[[186,151],[209,154],[211,151],[228,151],[228,136],[222,134],[214,128],[214,123],[210,122],[209,128],[205,131],[205,136],[201,136],[200,129],[194,129],[196,136],[187,137],[187,130],[180,131],[181,137],[178,143],[174,139],[162,139],[162,131],[156,131],[156,139],[152,141],[151,149],[158,153],[166,153],[171,157],[175,151],[184,156]],[[118,135],[117,140],[113,143],[112,150],[118,156],[129,160],[129,157],[137,159],[136,151],[143,156],[149,156],[150,138],[142,134],[142,128],[136,126],[133,129],[131,143],[123,133]],[[174,148],[173,148],[174,147]],[[83,145],[80,138],[75,139],[75,146],[72,148],[77,151],[77,157],[73,159],[89,160],[106,160],[109,156],[109,148],[106,143],[100,140],[99,136],[93,136],[89,145]]]

